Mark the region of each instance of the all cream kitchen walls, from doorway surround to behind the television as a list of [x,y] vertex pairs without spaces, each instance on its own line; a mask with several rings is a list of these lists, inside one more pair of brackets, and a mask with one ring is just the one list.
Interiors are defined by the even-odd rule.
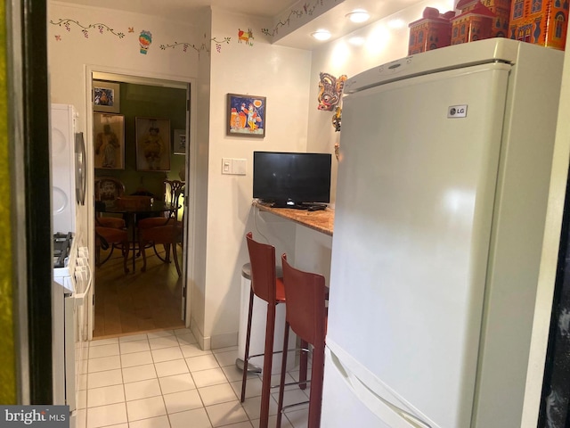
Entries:
[[[452,4],[449,2],[448,4]],[[404,22],[418,19],[426,2],[398,13]],[[90,100],[86,87],[88,70],[109,71],[134,76],[149,76],[191,81],[191,141],[196,156],[191,169],[196,180],[190,183],[190,196],[196,202],[192,215],[197,228],[191,231],[194,245],[190,253],[191,326],[200,345],[221,347],[237,343],[240,314],[241,266],[248,262],[244,235],[253,230],[260,239],[276,246],[277,255],[292,254],[305,268],[321,271],[328,277],[330,238],[311,236],[303,226],[294,226],[259,216],[251,208],[252,153],[255,150],[289,152],[334,152],[339,133],[330,124],[332,112],[317,111],[320,71],[352,76],[373,65],[407,53],[408,29],[387,32],[387,21],[372,23],[359,31],[369,41],[350,47],[348,37],[323,45],[313,53],[270,45],[259,29],[270,27],[263,20],[219,10],[205,10],[191,20],[167,21],[144,13],[109,11],[94,7],[70,6],[53,1],[49,20],[69,21],[69,30],[48,24],[48,53],[51,95],[54,103],[72,103],[79,112],[79,128],[90,129]],[[436,5],[437,7],[437,5]],[[445,12],[449,7],[440,7]],[[102,32],[88,28],[102,22],[124,37],[114,36],[107,27]],[[87,28],[88,37],[84,36]],[[129,32],[129,28],[133,31]],[[238,29],[253,29],[253,45],[237,43]],[[152,33],[147,54],[140,53],[138,36],[142,29]],[[384,37],[379,41],[378,37]],[[216,41],[231,37],[231,42]],[[161,49],[160,45],[188,42],[183,46]],[[202,48],[210,50],[208,53]],[[199,53],[195,49],[199,49]],[[265,138],[225,135],[225,104],[228,93],[267,97]],[[195,120],[195,121],[194,121]],[[93,151],[92,137],[85,132],[88,151]],[[223,157],[247,160],[245,176],[221,174]],[[89,159],[89,170],[93,161]],[[336,161],[333,161],[332,201],[336,189]],[[93,194],[92,180],[87,194]],[[93,218],[89,201],[88,219]],[[88,230],[91,230],[89,225]],[[263,234],[263,235],[262,235]],[[314,246],[311,245],[314,243]]]

